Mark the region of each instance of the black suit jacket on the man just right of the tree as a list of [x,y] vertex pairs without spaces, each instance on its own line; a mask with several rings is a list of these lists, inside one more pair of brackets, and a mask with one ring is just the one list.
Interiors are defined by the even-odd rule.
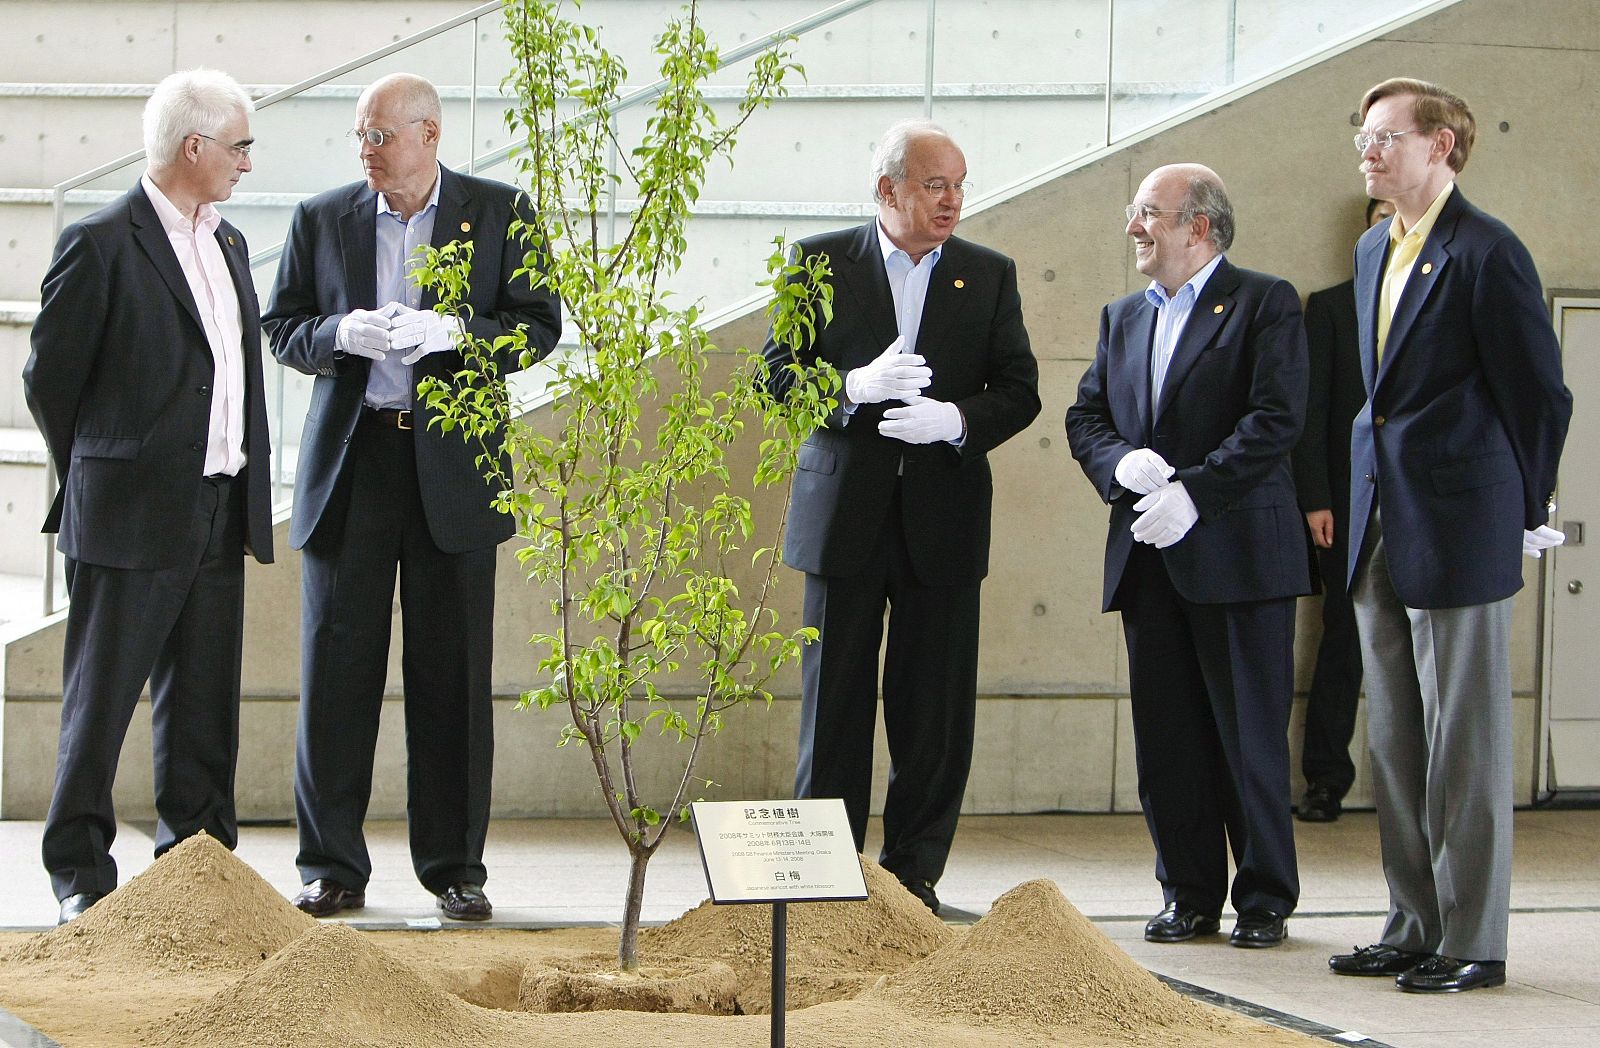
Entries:
[[[802,240],[803,256],[827,254],[834,277],[834,320],[805,349],[840,376],[870,362],[894,341],[894,299],[877,219]],[[989,451],[1038,416],[1038,363],[1022,326],[1016,264],[997,251],[950,237],[928,282],[917,352],[933,370],[923,395],[954,402],[966,440],[912,445],[878,434],[885,408],[837,411],[800,448],[784,563],[811,574],[848,576],[866,566],[899,477],[906,546],[928,586],[982,579],[989,573],[989,510],[994,485]],[[792,379],[789,350],[766,342],[771,389]]]

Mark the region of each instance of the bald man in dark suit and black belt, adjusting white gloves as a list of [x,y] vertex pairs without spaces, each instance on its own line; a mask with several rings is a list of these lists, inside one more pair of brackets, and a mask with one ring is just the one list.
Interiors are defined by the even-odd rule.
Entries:
[[[318,917],[365,904],[362,821],[398,570],[411,862],[446,917],[486,920],[494,547],[512,518],[493,507],[478,445],[434,426],[416,387],[462,368],[462,326],[480,339],[525,326],[528,347],[549,352],[560,304],[515,275],[517,190],[438,163],[427,80],[366,88],[350,134],[366,179],[294,210],[266,315],[277,358],[317,376],[290,520],[302,550],[294,904]],[[477,245],[459,320],[410,277],[419,246],[451,240]],[[520,362],[502,350],[496,365]]]

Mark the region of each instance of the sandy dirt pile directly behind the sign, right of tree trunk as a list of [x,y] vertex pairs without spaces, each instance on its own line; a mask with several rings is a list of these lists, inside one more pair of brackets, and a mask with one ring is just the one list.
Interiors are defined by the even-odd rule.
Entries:
[[[789,1008],[856,997],[883,974],[901,971],[950,941],[952,931],[872,859],[862,902],[789,904]],[[739,976],[739,1010],[771,1010],[773,910],[770,906],[701,902],[683,917],[640,931],[640,958],[723,960]]]

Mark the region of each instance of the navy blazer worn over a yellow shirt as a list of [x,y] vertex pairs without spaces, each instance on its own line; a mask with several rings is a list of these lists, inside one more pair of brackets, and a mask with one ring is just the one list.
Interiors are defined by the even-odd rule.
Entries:
[[1350,579],[1382,507],[1395,594],[1411,608],[1522,589],[1522,533],[1549,520],[1573,414],[1528,250],[1456,187],[1395,304],[1378,363],[1389,224],[1355,245],[1366,405],[1350,432]]

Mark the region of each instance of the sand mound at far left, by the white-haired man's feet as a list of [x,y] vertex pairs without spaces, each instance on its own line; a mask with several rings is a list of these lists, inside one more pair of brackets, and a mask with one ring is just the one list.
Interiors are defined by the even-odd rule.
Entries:
[[232,851],[198,834],[83,917],[26,942],[14,960],[85,970],[245,970],[315,925]]

